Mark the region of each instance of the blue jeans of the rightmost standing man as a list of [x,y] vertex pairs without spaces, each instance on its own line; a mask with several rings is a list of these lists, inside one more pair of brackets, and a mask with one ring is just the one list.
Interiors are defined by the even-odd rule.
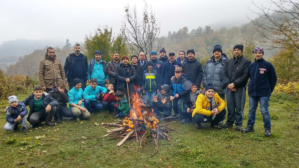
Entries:
[[270,114],[269,114],[269,100],[270,97],[250,97],[249,96],[249,111],[248,111],[248,122],[247,127],[253,127],[255,123],[255,113],[258,103],[261,108],[263,115],[263,123],[265,129],[271,128]]

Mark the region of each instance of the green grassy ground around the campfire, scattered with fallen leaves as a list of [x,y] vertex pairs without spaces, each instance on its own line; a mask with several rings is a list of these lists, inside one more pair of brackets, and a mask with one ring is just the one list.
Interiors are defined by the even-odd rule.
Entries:
[[[26,95],[18,96],[23,100]],[[299,167],[299,103],[294,96],[274,93],[270,100],[272,137],[264,136],[260,111],[254,133],[241,133],[235,127],[216,130],[210,124],[196,129],[194,123],[171,124],[181,132],[170,132],[170,142],[159,141],[159,152],[150,141],[139,148],[135,140],[121,147],[103,138],[105,128],[94,123],[114,122],[113,114],[92,114],[90,120],[64,119],[55,127],[5,132],[1,110],[0,167]],[[0,108],[7,100],[0,102]],[[248,97],[244,124],[248,119]],[[29,124],[28,124],[29,125]]]

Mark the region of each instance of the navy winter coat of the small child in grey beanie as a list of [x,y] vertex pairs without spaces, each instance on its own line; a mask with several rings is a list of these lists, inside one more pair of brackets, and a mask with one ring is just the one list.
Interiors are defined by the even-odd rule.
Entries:
[[6,110],[6,121],[8,123],[15,123],[15,119],[20,115],[22,118],[28,114],[26,105],[22,102],[18,102],[17,107],[9,106]]

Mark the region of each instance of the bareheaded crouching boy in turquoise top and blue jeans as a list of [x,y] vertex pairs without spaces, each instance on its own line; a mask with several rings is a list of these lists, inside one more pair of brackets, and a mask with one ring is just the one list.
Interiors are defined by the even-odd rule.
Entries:
[[97,86],[97,79],[92,78],[90,85],[83,92],[84,107],[92,113],[92,111],[102,110],[103,105],[99,102],[101,97],[104,97],[107,92],[106,87]]

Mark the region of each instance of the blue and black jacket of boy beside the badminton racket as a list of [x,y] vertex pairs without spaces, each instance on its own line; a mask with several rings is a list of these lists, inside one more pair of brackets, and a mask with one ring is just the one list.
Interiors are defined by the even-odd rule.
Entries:
[[179,79],[174,77],[170,82],[169,96],[174,96],[176,94],[178,94],[179,97],[185,96],[189,92],[189,90],[183,89],[182,83],[185,81],[187,81],[187,76],[185,74],[182,74]]

